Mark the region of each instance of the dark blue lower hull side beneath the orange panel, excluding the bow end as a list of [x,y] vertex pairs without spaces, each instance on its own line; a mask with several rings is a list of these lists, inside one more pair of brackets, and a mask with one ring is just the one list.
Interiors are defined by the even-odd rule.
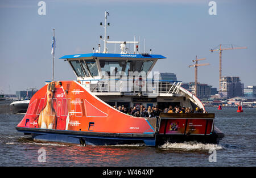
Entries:
[[146,146],[156,145],[155,134],[88,133],[20,127],[16,127],[16,129],[19,132],[31,134],[32,139],[35,141],[72,143],[76,145],[122,145],[137,143]]

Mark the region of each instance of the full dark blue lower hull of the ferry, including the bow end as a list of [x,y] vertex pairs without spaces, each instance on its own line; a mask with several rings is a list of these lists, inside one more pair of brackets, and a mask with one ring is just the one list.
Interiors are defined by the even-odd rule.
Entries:
[[222,133],[214,132],[212,135],[160,135],[160,134],[113,134],[81,132],[49,132],[49,130],[16,128],[19,132],[31,134],[34,141],[71,143],[75,145],[127,145],[141,144],[145,146],[159,146],[166,142],[181,143],[196,141],[200,143],[218,144],[224,137]]

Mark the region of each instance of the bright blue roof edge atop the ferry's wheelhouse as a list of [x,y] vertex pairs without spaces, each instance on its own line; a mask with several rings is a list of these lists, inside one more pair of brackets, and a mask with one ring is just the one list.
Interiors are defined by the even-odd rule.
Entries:
[[88,53],[88,54],[73,54],[65,55],[60,59],[81,58],[81,57],[113,57],[113,58],[158,58],[166,57],[159,54],[113,54],[113,53]]

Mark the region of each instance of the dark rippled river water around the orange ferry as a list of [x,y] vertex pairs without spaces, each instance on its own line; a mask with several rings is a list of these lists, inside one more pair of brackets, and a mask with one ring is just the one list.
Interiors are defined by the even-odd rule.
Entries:
[[[142,145],[79,146],[37,143],[16,131],[24,115],[0,114],[0,166],[256,166],[256,108],[207,108],[225,134],[219,145],[166,143]],[[46,151],[45,162],[38,158]],[[209,162],[216,150],[214,162]]]

